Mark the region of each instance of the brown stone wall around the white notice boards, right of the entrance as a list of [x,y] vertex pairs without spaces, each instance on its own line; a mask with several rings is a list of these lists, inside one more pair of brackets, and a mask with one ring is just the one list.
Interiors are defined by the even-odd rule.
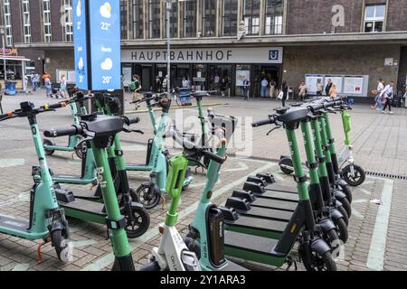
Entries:
[[398,61],[400,45],[287,47],[282,78],[290,87],[298,88],[306,74],[368,74],[371,90],[377,79],[397,81],[399,67],[384,66],[385,58]]

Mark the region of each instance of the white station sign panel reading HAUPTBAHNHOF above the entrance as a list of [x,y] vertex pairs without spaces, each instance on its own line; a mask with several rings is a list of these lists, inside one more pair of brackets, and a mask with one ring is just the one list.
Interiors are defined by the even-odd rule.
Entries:
[[[166,49],[122,51],[122,62],[163,63]],[[173,63],[282,63],[282,47],[173,49]]]

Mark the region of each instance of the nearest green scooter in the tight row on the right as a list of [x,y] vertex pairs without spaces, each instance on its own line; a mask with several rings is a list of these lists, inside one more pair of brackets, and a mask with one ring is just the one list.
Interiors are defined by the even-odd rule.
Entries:
[[[336,270],[331,247],[324,240],[323,232],[315,221],[308,193],[308,178],[304,174],[298,149],[296,130],[301,127],[304,144],[308,152],[307,161],[308,163],[316,163],[307,122],[309,117],[308,107],[282,107],[278,108],[277,113],[271,115],[269,119],[252,124],[254,127],[270,124],[274,124],[276,127],[284,126],[294,163],[298,204],[279,238],[265,238],[253,236],[250,233],[225,231],[226,256],[239,257],[271,266],[279,267],[286,263],[291,266],[294,263],[290,256],[291,251],[298,242],[298,255],[308,270]],[[314,181],[317,181],[316,173],[313,174]]]

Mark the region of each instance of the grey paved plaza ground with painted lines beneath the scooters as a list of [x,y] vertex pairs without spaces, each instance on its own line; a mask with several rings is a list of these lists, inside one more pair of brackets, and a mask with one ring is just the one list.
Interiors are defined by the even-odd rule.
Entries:
[[[127,97],[129,98],[129,97]],[[19,107],[21,101],[30,100],[36,106],[56,100],[45,98],[40,90],[35,95],[5,97],[5,111]],[[137,115],[141,122],[135,126],[145,132],[123,134],[125,157],[129,163],[142,163],[146,158],[147,140],[153,136],[147,113],[134,113],[134,107],[126,102],[128,114]],[[239,126],[228,150],[229,158],[222,166],[221,182],[213,191],[213,202],[221,205],[233,189],[241,189],[243,182],[256,172],[273,173],[278,182],[292,184],[292,178],[279,171],[275,163],[281,154],[289,154],[289,145],[282,129],[266,133],[271,127],[251,129],[253,120],[266,118],[279,103],[268,99],[205,98],[204,105],[213,107],[216,113],[239,117]],[[142,107],[143,108],[143,107]],[[345,255],[338,261],[343,271],[407,270],[407,109],[394,108],[394,115],[382,115],[369,105],[355,105],[352,115],[352,142],[356,163],[369,172],[366,182],[353,189],[354,214],[349,223],[349,240]],[[171,110],[170,117],[184,130],[199,131],[197,110],[194,107]],[[344,135],[339,115],[332,115],[332,126],[337,148],[342,148]],[[38,116],[40,128],[71,125],[69,108]],[[65,138],[57,139],[65,144]],[[300,141],[302,144],[302,141]],[[0,214],[27,219],[29,191],[33,185],[31,169],[37,165],[27,119],[16,118],[0,123]],[[171,148],[175,153],[176,149]],[[56,152],[48,158],[55,173],[79,174],[80,160],[70,153]],[[147,180],[148,173],[129,172],[132,188]],[[194,183],[182,196],[177,228],[186,234],[187,226],[194,217],[194,210],[204,188],[204,173],[194,174]],[[74,190],[74,186],[69,186]],[[380,201],[379,201],[380,200]],[[157,206],[150,210],[151,225],[141,238],[130,240],[137,268],[147,262],[151,248],[158,245],[158,225],[163,222],[166,210]],[[0,269],[2,271],[37,270],[109,270],[113,255],[106,228],[101,225],[70,219],[74,259],[64,264],[57,259],[54,249],[43,247],[43,263],[38,264],[38,242],[0,235]],[[235,260],[256,270],[269,270],[269,266]],[[271,268],[274,269],[274,268]],[[284,269],[284,268],[283,268]],[[301,266],[298,268],[303,270]]]

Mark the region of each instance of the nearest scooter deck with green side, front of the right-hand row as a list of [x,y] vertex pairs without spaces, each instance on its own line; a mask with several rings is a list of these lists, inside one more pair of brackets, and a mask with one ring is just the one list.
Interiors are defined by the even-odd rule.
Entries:
[[277,254],[274,247],[278,240],[252,236],[238,232],[224,232],[224,250],[226,256],[259,262],[271,266],[282,266],[287,256]]

